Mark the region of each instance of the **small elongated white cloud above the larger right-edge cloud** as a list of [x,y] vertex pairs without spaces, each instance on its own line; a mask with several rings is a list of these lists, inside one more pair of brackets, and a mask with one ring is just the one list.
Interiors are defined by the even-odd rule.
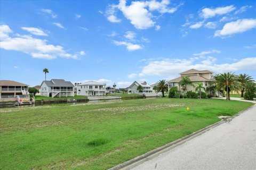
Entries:
[[227,14],[229,12],[232,12],[235,10],[234,5],[230,6],[225,6],[225,7],[216,7],[216,8],[203,8],[200,15],[202,18],[207,19],[207,18],[212,18],[216,15],[223,15]]

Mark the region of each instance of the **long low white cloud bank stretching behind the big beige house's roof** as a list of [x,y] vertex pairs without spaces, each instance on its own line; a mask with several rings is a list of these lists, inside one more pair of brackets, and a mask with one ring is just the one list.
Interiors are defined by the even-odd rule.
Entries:
[[161,61],[151,61],[142,67],[140,76],[158,75],[170,77],[189,69],[210,70],[214,73],[236,72],[236,71],[256,71],[256,57],[243,58],[234,63],[216,64],[216,58],[207,57],[206,60],[177,60],[166,58]]

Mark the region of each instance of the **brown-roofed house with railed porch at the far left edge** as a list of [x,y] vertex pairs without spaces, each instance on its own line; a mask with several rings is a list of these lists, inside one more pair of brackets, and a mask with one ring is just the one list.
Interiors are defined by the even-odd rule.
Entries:
[[28,85],[17,81],[0,80],[0,98],[1,101],[15,98],[29,98]]

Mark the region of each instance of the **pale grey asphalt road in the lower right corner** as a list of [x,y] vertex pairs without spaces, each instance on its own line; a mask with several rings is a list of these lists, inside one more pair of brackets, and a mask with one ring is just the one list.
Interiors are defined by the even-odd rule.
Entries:
[[256,169],[256,106],[133,169]]

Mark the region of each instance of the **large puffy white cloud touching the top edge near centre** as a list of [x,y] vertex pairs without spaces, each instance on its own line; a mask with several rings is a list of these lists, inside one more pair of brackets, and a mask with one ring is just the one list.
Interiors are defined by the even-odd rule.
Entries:
[[158,11],[159,13],[174,13],[177,8],[182,5],[175,7],[168,7],[170,4],[169,0],[162,0],[157,2],[152,1],[132,1],[130,5],[126,5],[126,0],[119,0],[118,5],[109,5],[106,11],[107,19],[110,22],[121,22],[117,19],[116,12],[120,10],[126,19],[130,20],[131,24],[137,29],[148,29],[155,25],[153,21],[156,17],[151,13]]

